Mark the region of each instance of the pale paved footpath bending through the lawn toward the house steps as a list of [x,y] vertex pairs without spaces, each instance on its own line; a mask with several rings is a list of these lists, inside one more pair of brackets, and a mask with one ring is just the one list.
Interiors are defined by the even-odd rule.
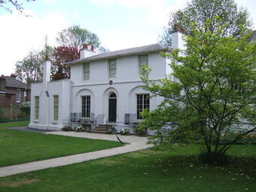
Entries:
[[[46,132],[45,134],[60,135],[60,136],[73,136],[88,139],[102,139],[109,141],[117,141],[115,135],[97,134],[97,133],[75,133],[75,132]],[[73,163],[81,163],[87,160],[95,160],[102,157],[110,157],[117,154],[125,154],[132,151],[139,151],[145,148],[150,148],[151,145],[147,145],[147,138],[138,136],[120,136],[122,142],[130,143],[130,145],[124,145],[118,148],[110,148],[101,151],[93,151],[84,154],[75,154],[66,157],[57,157],[49,160],[40,160],[32,163],[23,163],[15,166],[5,166],[0,168],[0,177],[8,175],[15,175],[22,172],[31,172],[40,169],[47,169],[56,166],[66,166]]]

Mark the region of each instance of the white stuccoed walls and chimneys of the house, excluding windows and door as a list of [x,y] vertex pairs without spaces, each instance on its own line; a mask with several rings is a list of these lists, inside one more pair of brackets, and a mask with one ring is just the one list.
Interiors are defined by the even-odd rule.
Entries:
[[[172,48],[184,48],[182,34],[172,34]],[[92,51],[86,50],[81,57],[92,56]],[[50,81],[49,62],[44,63],[44,81],[32,84],[31,118],[29,127],[43,130],[60,130],[65,120],[70,120],[71,112],[81,113],[81,96],[91,96],[91,112],[105,114],[108,118],[108,97],[111,93],[117,95],[117,121],[124,121],[124,114],[136,114],[136,94],[147,93],[142,90],[139,78],[139,56],[117,57],[117,77],[108,78],[108,59],[90,62],[90,80],[84,81],[84,65],[71,66],[71,79]],[[163,58],[160,53],[148,53],[148,66],[152,69],[149,78],[157,81],[172,72],[170,59]],[[112,80],[113,84],[108,82]],[[46,96],[48,91],[50,97]],[[59,120],[53,121],[53,96],[59,95]],[[40,96],[39,120],[35,120],[35,96]],[[163,101],[161,97],[150,100],[150,110],[157,108]],[[96,117],[95,116],[95,117]],[[150,133],[153,133],[149,131]]]

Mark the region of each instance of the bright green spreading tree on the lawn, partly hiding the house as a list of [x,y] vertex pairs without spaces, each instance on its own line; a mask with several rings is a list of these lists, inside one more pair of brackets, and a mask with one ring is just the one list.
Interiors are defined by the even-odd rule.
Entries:
[[[206,152],[201,157],[221,164],[230,146],[256,130],[256,44],[247,41],[250,34],[242,27],[240,38],[223,36],[229,23],[215,24],[212,32],[215,20],[206,20],[207,31],[190,24],[193,35],[184,37],[186,49],[164,54],[172,58],[172,75],[156,83],[145,67],[145,90],[164,100],[156,110],[142,113],[140,126],[157,130],[151,138],[155,144],[202,139]],[[174,129],[163,129],[169,122]]]

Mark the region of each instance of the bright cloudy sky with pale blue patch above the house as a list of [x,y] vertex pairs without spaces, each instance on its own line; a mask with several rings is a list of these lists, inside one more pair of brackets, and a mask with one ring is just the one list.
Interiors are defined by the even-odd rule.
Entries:
[[[256,29],[256,2],[236,0],[247,8]],[[102,46],[120,50],[157,43],[172,11],[187,0],[35,0],[23,3],[25,17],[0,9],[0,75],[15,72],[15,63],[30,50],[56,46],[56,35],[80,25],[99,36]]]

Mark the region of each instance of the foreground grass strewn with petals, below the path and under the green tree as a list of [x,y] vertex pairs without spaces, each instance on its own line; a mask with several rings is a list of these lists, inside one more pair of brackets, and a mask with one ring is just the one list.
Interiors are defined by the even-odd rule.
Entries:
[[0,178],[0,191],[256,191],[256,145],[230,149],[229,166],[198,162],[199,145],[136,151]]

